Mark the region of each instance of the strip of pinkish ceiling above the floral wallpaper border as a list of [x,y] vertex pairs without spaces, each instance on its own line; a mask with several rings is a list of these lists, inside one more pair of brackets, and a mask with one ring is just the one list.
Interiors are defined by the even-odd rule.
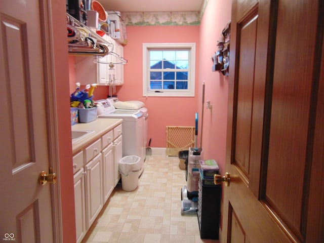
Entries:
[[119,12],[200,11],[204,0],[98,0],[107,10]]

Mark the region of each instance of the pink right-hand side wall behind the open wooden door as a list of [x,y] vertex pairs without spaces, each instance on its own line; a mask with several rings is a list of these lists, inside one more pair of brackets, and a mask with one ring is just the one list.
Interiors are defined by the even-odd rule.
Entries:
[[[204,16],[200,22],[199,33],[199,76],[198,76],[198,108],[201,114],[201,93],[205,80],[205,106],[203,143],[204,158],[213,158],[225,173],[226,123],[228,77],[220,72],[212,71],[211,56],[217,48],[221,32],[231,19],[231,2],[209,0]],[[211,101],[212,110],[206,109],[206,101]],[[199,130],[200,131],[200,130]],[[200,138],[199,138],[200,141]]]

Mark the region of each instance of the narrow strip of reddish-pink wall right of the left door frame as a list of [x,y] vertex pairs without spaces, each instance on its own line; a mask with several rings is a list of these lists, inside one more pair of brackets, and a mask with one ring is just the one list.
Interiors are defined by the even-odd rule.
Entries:
[[69,68],[66,44],[66,14],[63,0],[51,1],[53,11],[54,67],[56,85],[57,133],[59,147],[58,172],[61,190],[63,242],[75,242],[74,187],[72,168],[71,121],[69,105]]

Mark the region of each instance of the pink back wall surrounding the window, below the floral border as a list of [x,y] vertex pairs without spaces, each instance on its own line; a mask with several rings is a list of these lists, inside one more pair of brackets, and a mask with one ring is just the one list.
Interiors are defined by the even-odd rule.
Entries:
[[124,56],[128,63],[124,66],[124,85],[117,94],[118,98],[145,103],[149,112],[148,138],[152,138],[151,147],[166,147],[166,126],[194,126],[197,96],[143,97],[142,44],[196,43],[197,83],[199,26],[127,26],[127,39]]

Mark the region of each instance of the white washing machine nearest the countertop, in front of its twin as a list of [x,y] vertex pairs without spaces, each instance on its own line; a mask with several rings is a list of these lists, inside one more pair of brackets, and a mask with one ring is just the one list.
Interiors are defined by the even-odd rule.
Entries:
[[[144,148],[144,113],[140,110],[116,109],[109,99],[97,100],[98,118],[123,119],[123,157],[137,155],[141,158],[141,164],[145,159]],[[139,175],[142,174],[144,166]]]

